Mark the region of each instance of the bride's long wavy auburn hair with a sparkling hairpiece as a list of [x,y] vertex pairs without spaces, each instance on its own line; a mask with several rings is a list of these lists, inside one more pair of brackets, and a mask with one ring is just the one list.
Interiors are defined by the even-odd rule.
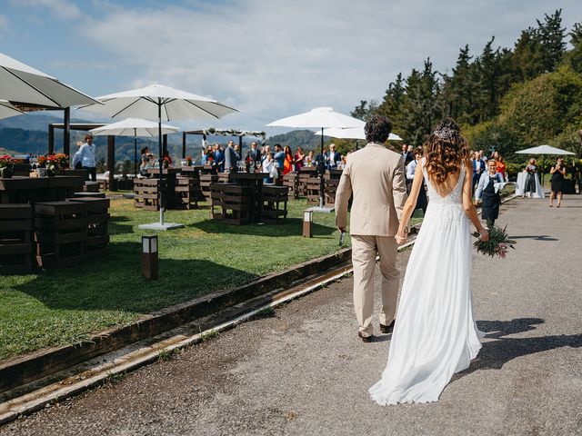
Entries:
[[426,173],[437,183],[447,180],[450,173],[458,173],[461,163],[469,160],[467,140],[452,118],[445,118],[428,138],[426,148]]

